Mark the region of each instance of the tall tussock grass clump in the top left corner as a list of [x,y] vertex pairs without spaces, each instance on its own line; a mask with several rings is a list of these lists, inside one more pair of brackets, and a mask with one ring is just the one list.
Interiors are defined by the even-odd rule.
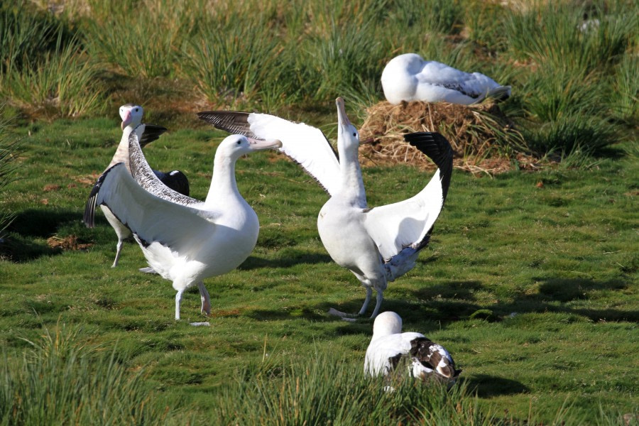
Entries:
[[36,116],[80,116],[102,109],[99,69],[60,21],[0,10],[0,95]]

